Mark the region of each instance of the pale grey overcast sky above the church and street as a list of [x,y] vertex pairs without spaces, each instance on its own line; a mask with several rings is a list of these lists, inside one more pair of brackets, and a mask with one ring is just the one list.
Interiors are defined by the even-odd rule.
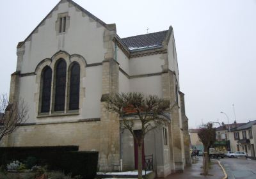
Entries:
[[[16,46],[58,0],[8,0],[0,11],[0,94],[9,93]],[[123,38],[173,26],[180,91],[185,93],[189,127],[202,121],[256,120],[255,0],[75,0]],[[29,88],[29,87],[28,87]]]

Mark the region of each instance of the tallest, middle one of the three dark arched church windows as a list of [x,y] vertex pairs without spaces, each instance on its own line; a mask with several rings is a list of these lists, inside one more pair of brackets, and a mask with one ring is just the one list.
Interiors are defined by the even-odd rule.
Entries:
[[56,64],[54,111],[64,111],[67,64],[63,59]]

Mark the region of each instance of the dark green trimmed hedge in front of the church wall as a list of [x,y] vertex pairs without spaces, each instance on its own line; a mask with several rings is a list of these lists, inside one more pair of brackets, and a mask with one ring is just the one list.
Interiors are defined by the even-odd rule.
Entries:
[[84,178],[94,178],[97,172],[98,152],[79,152],[78,146],[0,147],[0,166],[13,160],[24,162],[35,157],[37,164],[51,170],[65,171]]

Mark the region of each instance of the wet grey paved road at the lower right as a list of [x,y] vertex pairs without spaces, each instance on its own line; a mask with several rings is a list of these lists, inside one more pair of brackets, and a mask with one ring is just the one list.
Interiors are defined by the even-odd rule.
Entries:
[[256,160],[251,159],[220,159],[227,171],[228,179],[256,179]]

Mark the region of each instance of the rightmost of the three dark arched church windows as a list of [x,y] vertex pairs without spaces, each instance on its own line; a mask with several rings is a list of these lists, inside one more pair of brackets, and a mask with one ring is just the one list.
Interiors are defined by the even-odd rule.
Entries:
[[80,66],[72,64],[70,68],[69,110],[79,109]]

